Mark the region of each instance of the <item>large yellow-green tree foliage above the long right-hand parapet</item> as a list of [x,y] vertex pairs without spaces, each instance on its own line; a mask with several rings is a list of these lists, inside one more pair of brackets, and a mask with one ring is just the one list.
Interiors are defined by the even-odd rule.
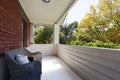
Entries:
[[71,33],[70,36],[74,37],[69,44],[119,48],[120,1],[105,0],[97,6],[91,5],[89,12],[79,22],[76,29],[76,33],[71,33],[70,29],[66,31],[67,35]]

